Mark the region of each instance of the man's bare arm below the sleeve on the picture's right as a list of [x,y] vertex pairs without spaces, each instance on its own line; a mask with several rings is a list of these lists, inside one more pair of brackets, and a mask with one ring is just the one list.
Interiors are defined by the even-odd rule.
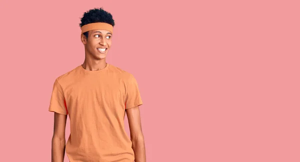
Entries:
[[126,114],[130,129],[130,140],[132,141],[132,149],[134,151],[135,162],[145,162],[146,153],[144,145],[144,137],[141,130],[141,121],[139,107],[135,106],[126,109]]

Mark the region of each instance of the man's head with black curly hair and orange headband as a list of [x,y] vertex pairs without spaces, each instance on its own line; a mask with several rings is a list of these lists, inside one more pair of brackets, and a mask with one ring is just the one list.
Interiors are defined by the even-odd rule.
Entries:
[[86,54],[94,59],[105,58],[111,45],[112,15],[102,8],[90,9],[84,12],[79,26]]

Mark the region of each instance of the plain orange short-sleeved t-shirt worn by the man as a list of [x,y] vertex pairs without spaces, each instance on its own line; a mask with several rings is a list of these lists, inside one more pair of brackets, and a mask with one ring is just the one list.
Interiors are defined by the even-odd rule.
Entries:
[[48,110],[69,116],[70,162],[133,162],[124,116],[125,109],[141,104],[131,73],[108,63],[94,71],[80,64],[55,79]]

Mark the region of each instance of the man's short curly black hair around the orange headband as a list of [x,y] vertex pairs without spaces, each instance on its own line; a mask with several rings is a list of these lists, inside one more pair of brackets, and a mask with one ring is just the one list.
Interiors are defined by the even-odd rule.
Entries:
[[[112,15],[109,12],[105,11],[102,7],[89,9],[88,11],[83,13],[83,16],[80,18],[80,20],[80,27],[93,22],[106,22],[114,26],[114,20],[112,18]],[[83,34],[87,38],[88,31],[84,32]]]

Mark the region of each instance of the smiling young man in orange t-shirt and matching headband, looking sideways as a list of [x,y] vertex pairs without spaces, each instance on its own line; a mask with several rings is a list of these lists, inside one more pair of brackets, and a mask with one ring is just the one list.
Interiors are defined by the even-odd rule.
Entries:
[[[142,104],[132,74],[105,61],[111,46],[114,20],[102,8],[81,18],[82,64],[58,76],[49,111],[54,112],[52,161],[145,162],[139,105]],[[127,114],[130,138],[124,129]],[[70,135],[65,145],[67,114]]]

